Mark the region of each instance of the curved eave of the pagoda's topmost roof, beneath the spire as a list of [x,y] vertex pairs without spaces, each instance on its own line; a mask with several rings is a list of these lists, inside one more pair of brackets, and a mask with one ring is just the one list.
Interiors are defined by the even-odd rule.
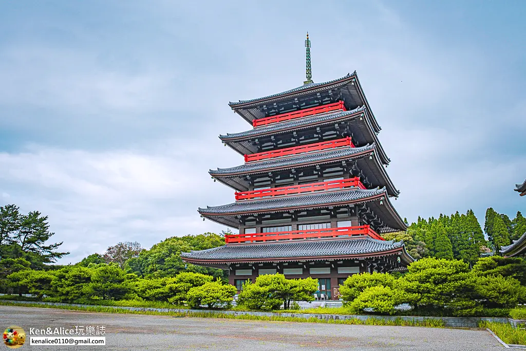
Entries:
[[[354,84],[355,81],[357,83],[356,85]],[[282,101],[282,100],[285,100],[291,97],[317,93],[317,92],[325,91],[327,89],[332,89],[332,88],[343,88],[347,84],[352,84],[356,86],[355,88],[356,93],[358,94],[359,98],[363,102],[362,104],[358,104],[358,105],[365,104],[367,106],[372,116],[372,124],[373,124],[373,127],[375,128],[375,132],[377,133],[380,132],[381,127],[376,121],[375,115],[372,113],[371,106],[369,105],[369,102],[367,101],[365,93],[363,93],[363,89],[361,87],[356,71],[353,72],[352,74],[347,74],[345,77],[335,79],[334,81],[329,81],[329,82],[325,82],[325,83],[321,83],[317,85],[315,84],[315,85],[312,85],[306,88],[297,87],[295,89],[291,89],[283,93],[269,95],[266,97],[261,97],[261,98],[251,99],[251,100],[239,101],[237,103],[230,102],[228,105],[230,106],[230,108],[234,110],[234,112],[238,113],[248,123],[251,124],[252,121],[254,121],[254,119],[263,117],[263,116],[257,116],[254,114],[254,111],[251,111],[252,109],[257,109],[258,108],[257,105],[260,105],[262,103],[278,102],[278,101]]]

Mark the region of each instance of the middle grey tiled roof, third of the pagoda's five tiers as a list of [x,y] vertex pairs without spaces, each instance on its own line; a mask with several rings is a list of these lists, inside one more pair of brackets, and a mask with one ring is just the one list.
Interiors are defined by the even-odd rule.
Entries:
[[[372,159],[369,159],[369,158]],[[389,196],[398,196],[399,191],[391,182],[386,169],[378,157],[375,144],[362,147],[340,147],[325,152],[313,152],[294,157],[271,159],[264,162],[250,162],[231,168],[210,169],[210,175],[238,191],[248,190],[249,183],[245,175],[261,174],[288,168],[302,168],[318,164],[330,164],[342,161],[356,162],[356,166],[365,175],[372,186],[386,187]]]

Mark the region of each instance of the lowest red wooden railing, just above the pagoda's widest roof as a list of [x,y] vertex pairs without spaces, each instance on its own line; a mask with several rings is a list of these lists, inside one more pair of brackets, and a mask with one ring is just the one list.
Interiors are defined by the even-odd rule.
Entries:
[[373,239],[383,240],[383,238],[376,234],[376,232],[372,230],[369,225],[360,225],[341,228],[291,230],[290,232],[225,235],[225,243],[258,243],[308,238],[337,238],[342,236],[349,237],[359,235],[367,235]]

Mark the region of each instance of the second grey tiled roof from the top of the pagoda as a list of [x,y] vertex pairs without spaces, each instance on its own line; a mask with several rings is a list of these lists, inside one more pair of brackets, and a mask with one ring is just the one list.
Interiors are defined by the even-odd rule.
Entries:
[[300,129],[307,129],[312,127],[319,127],[322,125],[332,125],[335,123],[346,122],[349,123],[353,131],[353,143],[363,145],[374,143],[378,147],[380,159],[383,164],[389,164],[391,161],[383,150],[378,137],[373,129],[371,119],[367,109],[364,106],[357,107],[352,111],[344,111],[337,113],[330,113],[321,116],[314,116],[308,118],[299,118],[290,122],[271,124],[265,127],[258,127],[250,129],[246,132],[234,133],[227,135],[220,135],[222,142],[230,146],[232,149],[240,153],[254,154],[258,152],[258,148],[252,141],[255,138],[262,136],[278,135]]

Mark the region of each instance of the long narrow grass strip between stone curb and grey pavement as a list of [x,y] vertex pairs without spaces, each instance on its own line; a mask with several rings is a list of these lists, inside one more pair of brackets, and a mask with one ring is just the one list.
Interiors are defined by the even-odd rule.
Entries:
[[[301,322],[301,323],[326,323],[326,324],[348,324],[348,325],[396,325],[396,326],[414,326],[414,327],[443,327],[444,324],[441,319],[424,318],[423,320],[404,320],[402,318],[395,318],[393,320],[386,320],[382,318],[367,318],[361,320],[358,318],[351,319],[318,319],[318,318],[301,318],[301,317],[285,317],[285,316],[254,316],[254,315],[232,315],[228,313],[213,313],[213,312],[157,312],[157,311],[143,311],[143,310],[129,310],[123,308],[115,308],[109,306],[54,306],[41,305],[36,303],[10,303],[6,300],[0,301],[0,305],[4,306],[23,306],[23,307],[38,307],[38,308],[56,308],[68,309],[75,311],[97,312],[97,313],[121,313],[121,314],[139,314],[139,315],[157,315],[157,316],[176,316],[176,317],[198,317],[198,318],[224,318],[224,319],[246,319],[246,320],[262,320],[262,321],[276,321],[276,322]],[[297,312],[297,311],[296,311]]]

